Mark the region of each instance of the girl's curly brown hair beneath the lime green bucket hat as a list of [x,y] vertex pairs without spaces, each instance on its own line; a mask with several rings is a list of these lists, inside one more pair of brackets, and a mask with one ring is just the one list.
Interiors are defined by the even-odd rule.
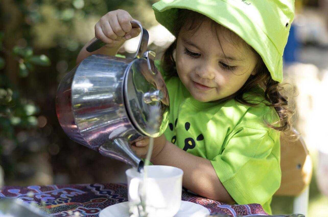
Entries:
[[[235,99],[241,104],[248,106],[256,106],[263,101],[254,103],[254,100],[248,100],[247,98],[245,98],[244,93],[251,92],[252,89],[259,86],[264,90],[263,97],[267,102],[269,102],[264,102],[265,105],[275,108],[279,116],[279,120],[275,123],[269,123],[264,119],[265,124],[273,129],[283,131],[285,133],[289,132],[291,129],[291,117],[294,112],[292,111],[292,109],[289,108],[287,97],[284,97],[280,93],[283,90],[283,87],[281,86],[281,84],[279,84],[279,82],[272,79],[270,72],[264,64],[262,58],[250,45],[241,40],[239,36],[237,36],[228,28],[216,23],[215,21],[211,20],[203,14],[187,9],[179,9],[177,13],[177,18],[175,19],[175,26],[172,29],[172,33],[177,38],[182,28],[190,32],[196,32],[196,30],[205,20],[210,20],[212,22],[212,26],[215,28],[219,27],[220,29],[228,30],[231,37],[239,39],[234,40],[233,42],[242,42],[248,49],[251,49],[258,56],[258,61],[255,67],[256,75],[251,75],[245,82],[245,84],[237,92],[218,101],[222,102],[229,99]],[[174,42],[166,49],[162,56],[162,67],[166,76],[168,77],[177,75],[174,60],[174,50],[176,48],[176,42],[177,40],[175,39]]]

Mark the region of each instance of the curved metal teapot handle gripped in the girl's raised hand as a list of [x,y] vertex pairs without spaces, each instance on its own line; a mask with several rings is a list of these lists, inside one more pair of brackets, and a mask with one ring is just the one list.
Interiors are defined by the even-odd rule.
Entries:
[[[144,52],[146,52],[147,50],[147,45],[148,45],[148,40],[149,40],[149,34],[148,31],[144,28],[142,28],[141,24],[136,22],[136,21],[131,21],[131,24],[136,24],[138,25],[138,27],[140,29],[142,29],[141,31],[141,37],[140,37],[140,41],[139,41],[139,45],[137,48],[137,52],[134,54],[134,58],[140,58],[142,57],[142,54]],[[106,43],[101,41],[100,39],[96,39],[94,42],[92,42],[87,48],[86,50],[88,52],[93,52],[95,50],[98,50],[99,48],[101,48],[102,46],[104,46]]]

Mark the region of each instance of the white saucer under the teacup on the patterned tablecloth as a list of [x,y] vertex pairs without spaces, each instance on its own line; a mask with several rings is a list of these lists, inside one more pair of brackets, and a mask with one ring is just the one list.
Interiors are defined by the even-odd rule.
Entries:
[[[205,217],[210,211],[202,205],[181,201],[179,211],[174,217]],[[129,202],[122,202],[101,210],[99,217],[129,217]]]

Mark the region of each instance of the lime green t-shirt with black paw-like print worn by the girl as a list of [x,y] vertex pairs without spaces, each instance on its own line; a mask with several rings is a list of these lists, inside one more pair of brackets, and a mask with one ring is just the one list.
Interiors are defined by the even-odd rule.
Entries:
[[[156,61],[157,68],[161,70]],[[271,214],[270,203],[280,186],[280,133],[265,126],[278,119],[263,103],[246,106],[234,99],[199,102],[173,76],[165,79],[170,97],[165,137],[181,149],[209,159],[225,189],[237,204],[259,203]],[[262,101],[263,90],[256,90]]]

